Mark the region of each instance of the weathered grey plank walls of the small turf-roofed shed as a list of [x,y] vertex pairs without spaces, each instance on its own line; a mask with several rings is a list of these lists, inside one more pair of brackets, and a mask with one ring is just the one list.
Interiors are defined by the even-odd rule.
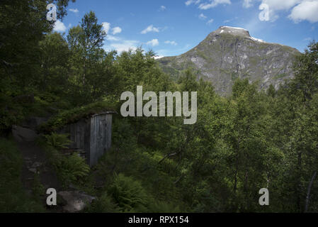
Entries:
[[113,111],[93,114],[82,118],[64,128],[63,133],[69,133],[72,150],[84,152],[87,164],[96,165],[98,159],[111,147],[111,126]]

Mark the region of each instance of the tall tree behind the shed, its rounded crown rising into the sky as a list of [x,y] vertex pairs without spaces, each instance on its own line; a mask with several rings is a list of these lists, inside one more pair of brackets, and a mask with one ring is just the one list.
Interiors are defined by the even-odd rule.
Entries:
[[[74,92],[79,92],[80,102],[83,104],[98,97],[96,91],[101,91],[101,78],[105,79],[103,72],[110,60],[101,48],[106,36],[103,26],[98,24],[95,13],[86,13],[81,20],[81,26],[69,30],[67,42],[72,52],[70,59],[72,77],[75,85]],[[110,54],[110,56],[113,56]]]

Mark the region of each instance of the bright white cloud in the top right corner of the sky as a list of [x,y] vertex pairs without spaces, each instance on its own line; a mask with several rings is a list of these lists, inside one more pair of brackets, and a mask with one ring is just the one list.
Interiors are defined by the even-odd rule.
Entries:
[[288,16],[295,23],[300,21],[310,21],[315,23],[318,21],[318,1],[302,1],[299,5],[295,6]]

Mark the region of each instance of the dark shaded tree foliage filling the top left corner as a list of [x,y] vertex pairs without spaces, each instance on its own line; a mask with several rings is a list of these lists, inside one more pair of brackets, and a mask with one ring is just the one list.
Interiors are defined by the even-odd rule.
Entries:
[[49,2],[57,5],[58,18],[62,19],[66,15],[65,8],[69,0],[4,0],[0,4],[0,73],[10,77],[11,82],[18,84],[22,90],[37,80],[38,42],[54,26],[53,22],[46,19]]

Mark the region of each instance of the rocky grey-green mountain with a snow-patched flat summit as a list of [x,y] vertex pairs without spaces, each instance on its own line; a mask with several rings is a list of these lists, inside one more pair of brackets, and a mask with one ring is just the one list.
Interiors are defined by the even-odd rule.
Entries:
[[157,61],[174,77],[193,67],[199,77],[212,82],[217,93],[229,94],[237,78],[257,81],[259,89],[271,84],[278,89],[284,79],[293,77],[293,60],[298,54],[295,48],[253,38],[244,28],[222,26],[192,50]]

